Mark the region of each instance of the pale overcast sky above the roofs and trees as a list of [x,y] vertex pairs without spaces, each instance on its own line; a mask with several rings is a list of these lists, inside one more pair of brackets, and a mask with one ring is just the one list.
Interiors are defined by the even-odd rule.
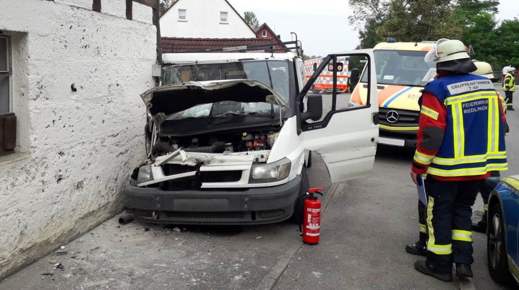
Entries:
[[[228,0],[243,16],[253,11],[260,24],[266,22],[282,41],[297,33],[308,56],[325,56],[331,52],[352,50],[358,43],[358,31],[350,27],[346,0]],[[497,20],[519,18],[517,0],[500,0]]]

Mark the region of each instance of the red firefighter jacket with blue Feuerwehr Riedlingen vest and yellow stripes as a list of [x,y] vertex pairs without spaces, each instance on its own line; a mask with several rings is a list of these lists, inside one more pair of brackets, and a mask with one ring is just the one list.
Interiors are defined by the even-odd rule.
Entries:
[[488,78],[441,72],[422,94],[412,171],[462,181],[507,170],[505,121]]

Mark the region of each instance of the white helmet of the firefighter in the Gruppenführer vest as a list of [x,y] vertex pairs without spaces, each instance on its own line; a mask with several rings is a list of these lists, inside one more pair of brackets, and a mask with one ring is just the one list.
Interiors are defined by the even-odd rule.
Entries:
[[426,62],[444,62],[449,60],[470,59],[465,45],[456,39],[442,38],[425,56]]

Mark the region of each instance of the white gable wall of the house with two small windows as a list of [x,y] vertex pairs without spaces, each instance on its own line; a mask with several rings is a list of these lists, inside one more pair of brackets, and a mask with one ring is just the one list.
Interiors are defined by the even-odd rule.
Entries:
[[[186,9],[186,21],[179,21],[179,9]],[[220,23],[226,11],[228,24]],[[160,18],[162,37],[245,38],[256,37],[224,0],[179,0]]]

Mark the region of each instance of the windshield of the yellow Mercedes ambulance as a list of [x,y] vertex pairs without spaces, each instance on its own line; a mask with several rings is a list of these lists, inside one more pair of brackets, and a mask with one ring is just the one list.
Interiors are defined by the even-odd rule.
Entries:
[[[420,82],[429,70],[435,67],[433,62],[425,62],[427,51],[375,50],[375,72],[377,84],[421,86]],[[367,82],[367,74],[362,76]]]

